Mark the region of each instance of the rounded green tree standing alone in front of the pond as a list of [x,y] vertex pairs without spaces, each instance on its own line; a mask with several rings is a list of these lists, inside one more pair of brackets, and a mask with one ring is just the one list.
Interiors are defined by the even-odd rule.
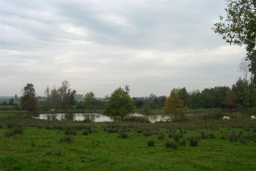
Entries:
[[103,114],[107,116],[127,116],[135,112],[135,106],[127,91],[119,87],[112,92],[109,101],[105,104]]

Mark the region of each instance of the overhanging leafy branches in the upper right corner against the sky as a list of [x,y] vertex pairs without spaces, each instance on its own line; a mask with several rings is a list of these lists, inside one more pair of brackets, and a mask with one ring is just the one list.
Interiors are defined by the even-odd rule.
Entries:
[[214,24],[214,32],[222,35],[230,45],[245,45],[247,52],[255,49],[256,43],[256,1],[255,0],[226,0],[228,2],[227,16],[223,22]]

